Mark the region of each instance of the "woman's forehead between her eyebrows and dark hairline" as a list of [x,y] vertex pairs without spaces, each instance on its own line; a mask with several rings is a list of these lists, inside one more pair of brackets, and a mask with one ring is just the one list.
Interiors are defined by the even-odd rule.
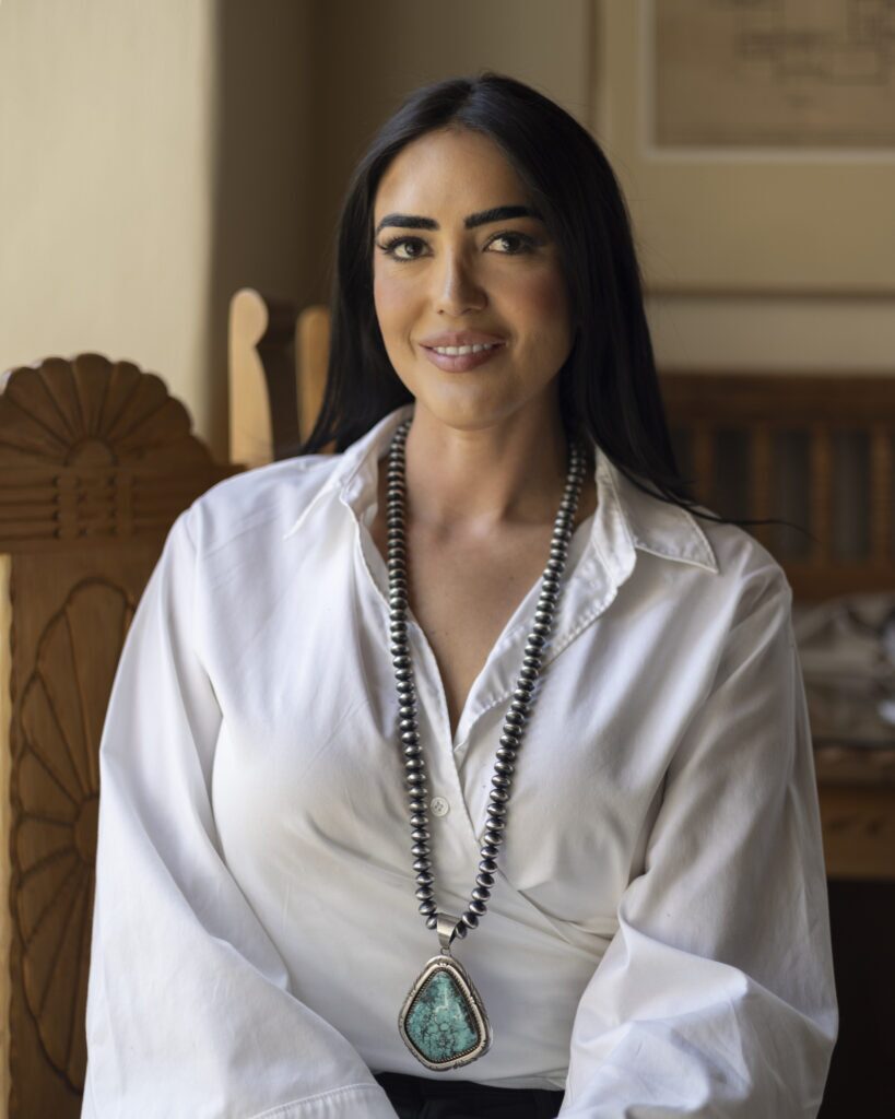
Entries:
[[435,216],[527,201],[512,164],[489,137],[469,130],[428,132],[392,160],[376,191],[374,218],[394,209]]

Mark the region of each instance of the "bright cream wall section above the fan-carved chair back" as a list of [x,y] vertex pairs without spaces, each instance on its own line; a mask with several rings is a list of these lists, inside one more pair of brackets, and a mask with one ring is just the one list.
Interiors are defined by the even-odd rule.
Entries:
[[0,368],[100,350],[201,426],[214,8],[0,4]]

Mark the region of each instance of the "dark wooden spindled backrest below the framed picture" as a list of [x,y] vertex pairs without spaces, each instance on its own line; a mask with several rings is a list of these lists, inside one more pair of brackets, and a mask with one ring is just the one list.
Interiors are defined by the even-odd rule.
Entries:
[[895,378],[666,373],[662,393],[704,505],[810,528],[754,528],[795,599],[895,590]]

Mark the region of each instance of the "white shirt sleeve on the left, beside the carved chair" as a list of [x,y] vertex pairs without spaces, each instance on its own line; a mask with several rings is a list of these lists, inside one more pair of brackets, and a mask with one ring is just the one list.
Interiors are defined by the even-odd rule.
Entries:
[[290,990],[222,858],[222,723],[192,641],[196,549],[175,523],[103,727],[87,1119],[395,1119],[357,1051]]

